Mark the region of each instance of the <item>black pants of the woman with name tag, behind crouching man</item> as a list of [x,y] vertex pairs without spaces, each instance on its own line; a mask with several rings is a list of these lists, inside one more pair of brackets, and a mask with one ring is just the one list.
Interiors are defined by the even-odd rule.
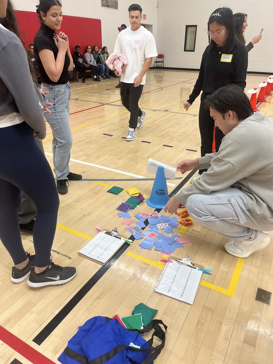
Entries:
[[[204,107],[204,100],[206,98],[206,92],[201,95],[201,103],[199,108],[199,130],[201,135],[201,157],[205,154],[212,153],[213,134],[214,134],[214,120],[210,116],[210,111]],[[215,150],[218,152],[222,139],[225,135],[216,127],[215,128]],[[207,169],[200,169],[199,173],[206,172]]]

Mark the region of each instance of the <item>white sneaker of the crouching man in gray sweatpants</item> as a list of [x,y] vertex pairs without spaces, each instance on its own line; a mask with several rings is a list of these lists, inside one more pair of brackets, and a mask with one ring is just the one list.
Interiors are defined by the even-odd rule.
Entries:
[[246,258],[256,250],[264,249],[270,242],[270,236],[262,231],[256,231],[256,237],[253,240],[230,240],[225,244],[227,253],[234,257]]

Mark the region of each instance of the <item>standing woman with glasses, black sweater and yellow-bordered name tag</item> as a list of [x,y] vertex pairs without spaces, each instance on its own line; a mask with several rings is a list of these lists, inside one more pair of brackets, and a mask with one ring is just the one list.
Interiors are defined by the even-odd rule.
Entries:
[[[210,111],[204,107],[207,95],[220,87],[234,83],[243,90],[246,86],[246,70],[248,68],[248,53],[246,47],[237,40],[234,30],[232,10],[223,7],[216,9],[207,23],[207,33],[210,44],[202,56],[198,79],[189,99],[183,103],[186,111],[194,100],[201,95],[199,108],[199,130],[201,135],[201,157],[212,153],[214,120]],[[219,150],[224,137],[222,131],[215,127],[215,149]],[[199,173],[192,179],[198,179],[207,169],[199,169]]]

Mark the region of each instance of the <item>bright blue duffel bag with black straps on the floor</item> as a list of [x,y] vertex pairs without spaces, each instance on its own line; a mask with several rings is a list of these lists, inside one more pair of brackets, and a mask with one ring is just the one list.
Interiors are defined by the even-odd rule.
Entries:
[[[151,329],[154,332],[150,340],[139,335]],[[166,331],[167,326],[161,320],[152,320],[142,330],[128,330],[115,318],[96,316],[68,341],[58,360],[62,364],[151,364],[165,345]],[[161,340],[155,348],[154,336]]]

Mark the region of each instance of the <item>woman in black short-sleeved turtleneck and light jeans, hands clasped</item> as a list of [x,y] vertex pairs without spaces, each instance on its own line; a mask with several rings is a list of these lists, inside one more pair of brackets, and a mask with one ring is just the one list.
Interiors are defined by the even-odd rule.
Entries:
[[62,4],[59,0],[40,0],[36,5],[41,27],[34,38],[34,54],[42,82],[41,87],[48,91],[48,100],[53,104],[47,116],[53,134],[52,149],[57,190],[67,193],[67,180],[78,181],[82,175],[69,171],[72,134],[69,122],[70,94],[68,71],[72,70],[73,60],[68,37],[59,30],[63,21]]

